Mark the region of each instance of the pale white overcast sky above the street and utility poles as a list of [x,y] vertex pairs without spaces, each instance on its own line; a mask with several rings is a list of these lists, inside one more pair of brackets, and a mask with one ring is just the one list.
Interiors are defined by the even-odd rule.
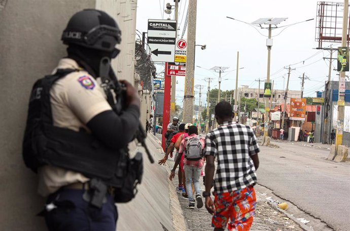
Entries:
[[[188,2],[193,0],[181,0],[179,3],[179,34],[181,37]],[[277,28],[272,30],[273,46],[271,50],[270,79],[274,80],[274,89],[283,89],[287,85],[289,65],[292,70],[290,75],[289,89],[300,90],[301,80],[299,77],[305,73],[309,80],[305,80],[304,97],[316,97],[315,91],[324,89],[324,81],[328,78],[330,52],[316,50],[318,42],[315,41],[316,34],[316,0],[198,0],[197,1],[197,23],[196,44],[206,44],[206,49],[196,47],[195,85],[203,85],[202,99],[206,99],[205,90],[207,82],[205,77],[212,77],[211,88],[218,88],[218,73],[209,71],[214,66],[229,67],[222,73],[222,90],[235,88],[237,52],[239,52],[238,87],[248,85],[250,88],[258,88],[259,78],[264,80],[267,75],[267,29],[253,28],[248,24],[231,20],[226,16],[240,21],[251,23],[259,18],[288,18],[278,24],[284,26],[296,22],[314,18],[313,21],[293,25],[283,30]],[[341,1],[338,1],[341,2]],[[148,19],[167,19],[169,15],[163,13],[166,3],[173,5],[173,0],[138,0],[136,14],[136,29],[139,32],[147,32]],[[174,18],[174,13],[170,15]],[[185,33],[184,38],[187,34]],[[324,42],[323,47],[338,47],[339,43]],[[333,52],[333,58],[336,57]],[[332,63],[332,80],[338,80],[338,72],[333,71],[336,61]],[[157,73],[163,71],[164,67],[157,65]],[[224,80],[226,79],[226,80]],[[184,96],[185,77],[177,77],[177,101],[182,105]],[[199,89],[195,89],[195,103],[198,104]],[[203,94],[204,91],[204,94]],[[203,103],[202,103],[203,105]]]

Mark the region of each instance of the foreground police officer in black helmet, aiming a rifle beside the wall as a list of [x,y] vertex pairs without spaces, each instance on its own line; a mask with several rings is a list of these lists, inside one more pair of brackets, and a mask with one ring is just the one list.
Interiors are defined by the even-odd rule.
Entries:
[[[142,174],[138,154],[125,162],[125,150],[139,128],[140,99],[129,82],[117,80],[110,66],[121,41],[112,17],[93,9],[80,11],[69,20],[62,40],[68,45],[67,57],[33,86],[24,162],[38,173],[38,192],[47,197],[40,214],[49,231],[114,231],[115,202],[134,197],[136,178]],[[106,84],[112,81],[115,88]],[[117,95],[122,86],[126,103]]]

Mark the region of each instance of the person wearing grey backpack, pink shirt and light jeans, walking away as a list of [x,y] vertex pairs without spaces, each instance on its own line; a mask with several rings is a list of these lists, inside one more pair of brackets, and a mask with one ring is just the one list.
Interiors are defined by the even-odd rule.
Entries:
[[[198,136],[198,128],[194,125],[188,128],[188,136],[181,142],[179,149],[179,156],[176,164],[180,162],[181,156],[184,154],[184,170],[186,175],[186,188],[189,200],[189,209],[194,209],[195,200],[192,194],[192,182],[194,184],[195,198],[197,201],[197,208],[203,207],[203,201],[200,190],[200,172],[204,165],[203,149],[204,137]],[[172,180],[175,175],[176,165],[171,170],[169,179]]]

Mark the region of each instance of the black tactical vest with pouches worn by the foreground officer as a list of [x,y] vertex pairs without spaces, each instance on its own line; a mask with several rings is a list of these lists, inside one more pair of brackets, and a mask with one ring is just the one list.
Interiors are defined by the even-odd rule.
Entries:
[[45,164],[98,178],[115,188],[115,202],[128,202],[141,182],[142,155],[129,158],[127,150],[108,149],[92,134],[53,125],[50,89],[60,78],[74,72],[58,69],[34,83],[23,138],[25,165],[37,172]]

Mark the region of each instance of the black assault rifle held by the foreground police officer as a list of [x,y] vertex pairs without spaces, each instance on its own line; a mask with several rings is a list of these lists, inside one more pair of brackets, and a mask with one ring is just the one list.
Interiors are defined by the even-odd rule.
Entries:
[[[126,108],[126,89],[123,84],[121,84],[117,76],[115,75],[114,71],[111,68],[110,59],[108,57],[103,57],[100,62],[100,77],[102,80],[102,87],[104,91],[107,94],[107,101],[112,106],[113,110],[120,115],[123,110]],[[111,93],[111,90],[113,89],[114,93],[116,94],[117,102],[114,101],[114,97]],[[146,139],[146,132],[144,128],[141,125],[141,122],[138,124],[138,129],[135,132],[135,138],[138,143],[141,144],[142,147],[146,150],[146,154],[148,156],[148,159],[153,164],[154,159],[148,150],[145,139]]]

